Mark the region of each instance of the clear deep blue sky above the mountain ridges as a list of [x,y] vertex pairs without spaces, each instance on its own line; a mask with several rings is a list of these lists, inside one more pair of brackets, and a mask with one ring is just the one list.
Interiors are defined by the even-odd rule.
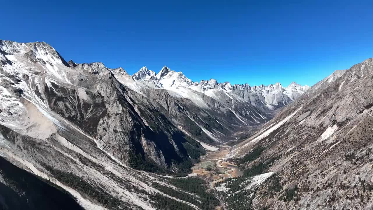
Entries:
[[0,38],[193,81],[313,85],[373,57],[372,1],[4,1]]

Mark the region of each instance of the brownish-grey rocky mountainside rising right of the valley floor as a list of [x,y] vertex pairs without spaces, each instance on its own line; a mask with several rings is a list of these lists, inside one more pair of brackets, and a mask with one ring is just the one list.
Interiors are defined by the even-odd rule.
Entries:
[[371,209],[372,75],[373,59],[334,72],[235,145],[230,155],[246,170],[246,184],[235,190],[252,194],[242,202],[253,209]]

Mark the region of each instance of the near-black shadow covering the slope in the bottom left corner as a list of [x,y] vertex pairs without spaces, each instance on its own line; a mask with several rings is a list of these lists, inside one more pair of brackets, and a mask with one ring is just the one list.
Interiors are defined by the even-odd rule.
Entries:
[[2,210],[82,210],[75,198],[46,179],[22,170],[0,157],[0,209]]

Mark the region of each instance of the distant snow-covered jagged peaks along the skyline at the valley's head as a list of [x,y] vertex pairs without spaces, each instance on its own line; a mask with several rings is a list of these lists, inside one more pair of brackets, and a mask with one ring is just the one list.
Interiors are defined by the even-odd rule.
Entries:
[[138,87],[163,88],[178,93],[181,97],[191,99],[201,108],[206,107],[206,104],[201,102],[195,92],[203,93],[217,100],[220,100],[222,93],[224,93],[232,100],[246,101],[254,106],[273,110],[291,103],[310,88],[295,82],[285,88],[280,83],[251,87],[247,83],[233,85],[229,82],[218,83],[212,78],[201,80],[198,83],[187,78],[182,72],[172,71],[166,66],[157,74],[148,70],[147,67],[142,67],[132,75],[132,78],[135,81],[133,86],[136,87],[133,90],[138,90]]

